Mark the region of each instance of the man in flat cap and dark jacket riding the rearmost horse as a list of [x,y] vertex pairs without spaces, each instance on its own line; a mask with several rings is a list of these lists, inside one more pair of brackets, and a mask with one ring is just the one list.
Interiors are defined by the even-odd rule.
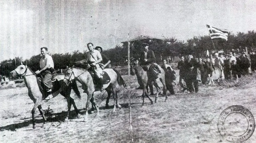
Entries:
[[[143,65],[147,66],[148,76],[153,76],[156,79],[157,73],[155,73],[155,71],[153,69],[153,66],[157,65],[155,63],[155,55],[154,55],[154,51],[148,49],[148,46],[149,45],[147,43],[142,44],[142,47],[144,47],[144,51],[140,54],[140,65],[142,67],[143,67]],[[157,66],[159,66],[159,65],[157,65]],[[138,83],[140,83],[140,81],[138,81]],[[139,87],[137,89],[142,89],[141,85],[139,85]]]

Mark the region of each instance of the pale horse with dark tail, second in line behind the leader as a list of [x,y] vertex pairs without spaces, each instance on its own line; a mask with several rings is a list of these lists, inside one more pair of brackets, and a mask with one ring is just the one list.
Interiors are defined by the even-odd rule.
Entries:
[[[116,110],[116,106],[121,108],[122,106],[119,105],[118,103],[118,98],[117,98],[117,89],[121,87],[121,85],[124,85],[121,75],[118,74],[116,71],[113,69],[104,69],[104,72],[108,73],[110,77],[110,82],[108,84],[104,84],[103,88],[108,92],[110,95],[111,92],[113,93],[114,97],[114,109],[113,111]],[[77,80],[82,84],[82,89],[87,93],[87,103],[86,103],[86,115],[84,117],[84,121],[88,117],[88,109],[89,109],[89,103],[92,102],[93,107],[96,108],[97,110],[97,115],[99,115],[99,108],[96,105],[96,103],[93,100],[93,95],[95,91],[100,91],[100,89],[96,88],[96,85],[94,85],[93,78],[89,71],[83,68],[79,67],[69,67],[66,72],[65,72],[65,78],[64,78],[64,83],[66,85],[69,85],[69,83],[72,80]],[[106,103],[107,104],[107,103]]]

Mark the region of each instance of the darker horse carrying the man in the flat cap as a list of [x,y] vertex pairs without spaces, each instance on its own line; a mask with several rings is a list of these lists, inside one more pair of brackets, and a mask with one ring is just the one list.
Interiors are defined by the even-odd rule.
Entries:
[[[166,94],[166,85],[165,85],[165,75],[164,75],[164,70],[161,68],[161,74],[159,75],[159,79],[161,81],[161,83],[163,84],[163,94],[165,94],[165,101],[167,100],[167,94]],[[145,95],[147,96],[147,98],[150,100],[151,104],[153,104],[152,99],[148,96],[148,92],[147,92],[147,86],[149,86],[151,94],[153,94],[153,85],[156,87],[156,95],[155,95],[155,103],[157,102],[158,99],[158,94],[159,94],[159,89],[160,87],[158,86],[158,84],[154,81],[154,78],[151,76],[147,75],[147,71],[144,71],[144,69],[139,65],[139,61],[132,61],[131,62],[131,75],[135,75],[137,76],[137,78],[139,79],[139,81],[141,81],[141,85],[143,88],[143,93],[142,93],[142,105],[144,105],[145,103]]]

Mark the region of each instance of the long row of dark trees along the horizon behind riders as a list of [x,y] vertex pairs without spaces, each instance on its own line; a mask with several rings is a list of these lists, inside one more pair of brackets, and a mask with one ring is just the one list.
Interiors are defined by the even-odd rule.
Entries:
[[[145,41],[143,41],[145,42]],[[175,57],[180,55],[187,55],[192,53],[196,57],[203,57],[206,50],[215,51],[210,36],[195,36],[188,39],[186,42],[177,40],[174,37],[164,38],[161,42],[150,40],[146,41],[150,44],[149,49],[154,50],[157,62],[161,62],[161,58],[168,56]],[[231,51],[232,49],[239,49],[248,47],[255,49],[256,45],[256,32],[248,31],[248,33],[238,32],[236,35],[229,33],[228,41],[223,39],[213,39],[216,50]],[[140,44],[134,44],[130,49],[130,57],[139,58],[140,53],[143,51]],[[127,50],[126,46],[116,46],[113,49],[102,51],[111,60],[112,66],[127,65]],[[240,49],[241,50],[241,49]],[[52,54],[55,69],[65,69],[66,66],[72,66],[74,62],[87,58],[85,51],[73,51],[72,53]],[[39,61],[41,54],[32,56],[26,59],[27,65],[33,70],[39,69]],[[21,57],[14,59],[4,60],[0,64],[0,75],[9,76],[10,71],[14,70],[20,62],[23,61]]]

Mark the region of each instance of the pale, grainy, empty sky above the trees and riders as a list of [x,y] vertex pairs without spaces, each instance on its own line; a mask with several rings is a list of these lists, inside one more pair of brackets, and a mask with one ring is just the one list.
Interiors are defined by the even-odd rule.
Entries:
[[103,50],[139,35],[186,40],[208,35],[206,24],[237,32],[256,29],[254,0],[1,0],[0,62]]

